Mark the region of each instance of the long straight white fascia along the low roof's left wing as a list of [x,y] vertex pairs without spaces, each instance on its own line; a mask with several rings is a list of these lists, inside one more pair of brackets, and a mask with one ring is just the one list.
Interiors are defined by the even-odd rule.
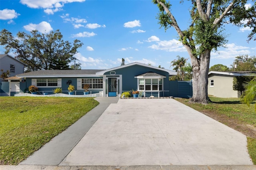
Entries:
[[102,77],[103,75],[92,75],[92,74],[78,74],[78,75],[27,75],[27,76],[20,76],[21,78],[57,78],[57,77]]

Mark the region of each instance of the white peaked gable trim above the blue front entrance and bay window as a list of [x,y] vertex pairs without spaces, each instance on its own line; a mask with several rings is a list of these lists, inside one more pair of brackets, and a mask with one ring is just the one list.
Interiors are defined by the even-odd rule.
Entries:
[[125,67],[129,67],[129,66],[132,66],[132,65],[141,65],[141,66],[149,67],[149,68],[152,68],[152,69],[158,69],[158,70],[166,71],[166,72],[169,73],[169,75],[177,75],[176,71],[171,71],[171,70],[168,70],[168,69],[162,69],[162,68],[159,68],[159,67],[155,67],[155,66],[147,65],[147,64],[142,64],[142,63],[138,63],[138,62],[130,63],[130,64],[118,66],[118,67],[114,67],[112,69],[107,69],[107,70],[104,70],[104,71],[100,71],[100,72],[97,72],[96,75],[103,75],[104,73],[106,73],[108,71],[112,71],[112,70],[116,70],[116,69],[120,69],[120,68],[125,68]]

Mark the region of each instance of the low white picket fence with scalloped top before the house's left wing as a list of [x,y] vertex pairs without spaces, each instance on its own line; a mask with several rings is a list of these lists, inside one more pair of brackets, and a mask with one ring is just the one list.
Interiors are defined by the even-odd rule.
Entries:
[[52,94],[52,95],[33,95],[30,93],[19,93],[14,96],[16,96],[16,97],[21,97],[21,96],[31,96],[31,97],[103,97],[103,92],[89,94],[89,95],[68,95],[68,94],[64,94],[64,93],[58,93],[58,94]]

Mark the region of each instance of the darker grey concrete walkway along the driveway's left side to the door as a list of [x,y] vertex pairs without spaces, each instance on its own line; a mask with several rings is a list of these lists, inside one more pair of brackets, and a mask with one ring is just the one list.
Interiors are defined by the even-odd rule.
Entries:
[[58,165],[76,146],[111,103],[117,103],[119,97],[96,97],[100,104],[86,113],[81,119],[54,137],[40,150],[36,151],[20,165]]

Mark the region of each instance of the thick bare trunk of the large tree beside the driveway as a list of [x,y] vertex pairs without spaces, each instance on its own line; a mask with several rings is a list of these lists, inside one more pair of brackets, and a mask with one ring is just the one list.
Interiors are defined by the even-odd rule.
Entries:
[[[197,57],[191,57],[193,65],[193,96],[191,102],[207,104],[210,102],[208,97],[208,71],[210,64],[210,49],[207,49]],[[190,55],[191,56],[191,55]]]

